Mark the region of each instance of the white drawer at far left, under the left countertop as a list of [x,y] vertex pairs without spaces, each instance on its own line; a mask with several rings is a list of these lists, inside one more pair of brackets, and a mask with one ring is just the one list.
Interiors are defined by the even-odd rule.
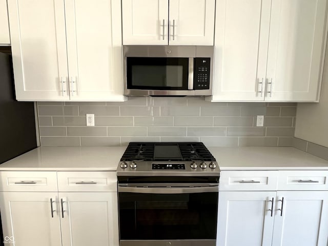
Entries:
[[0,191],[57,191],[56,172],[4,171],[0,179]]

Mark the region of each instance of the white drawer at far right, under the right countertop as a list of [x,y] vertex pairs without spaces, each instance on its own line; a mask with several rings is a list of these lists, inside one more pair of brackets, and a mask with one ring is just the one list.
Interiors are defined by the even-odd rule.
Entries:
[[278,190],[328,190],[328,171],[279,171]]

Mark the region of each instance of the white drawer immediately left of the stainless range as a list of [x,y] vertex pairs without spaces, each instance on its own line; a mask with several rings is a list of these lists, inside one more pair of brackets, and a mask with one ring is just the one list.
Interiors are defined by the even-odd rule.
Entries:
[[117,191],[116,172],[58,172],[58,191]]

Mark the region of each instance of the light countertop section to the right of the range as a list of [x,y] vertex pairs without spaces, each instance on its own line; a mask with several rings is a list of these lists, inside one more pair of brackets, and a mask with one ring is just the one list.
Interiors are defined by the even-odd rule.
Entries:
[[328,161],[293,147],[209,147],[220,170],[328,170]]

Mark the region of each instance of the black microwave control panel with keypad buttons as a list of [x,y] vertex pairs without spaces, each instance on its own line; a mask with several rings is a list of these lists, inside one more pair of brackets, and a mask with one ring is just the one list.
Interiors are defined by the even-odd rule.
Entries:
[[210,89],[211,58],[194,58],[194,90]]

